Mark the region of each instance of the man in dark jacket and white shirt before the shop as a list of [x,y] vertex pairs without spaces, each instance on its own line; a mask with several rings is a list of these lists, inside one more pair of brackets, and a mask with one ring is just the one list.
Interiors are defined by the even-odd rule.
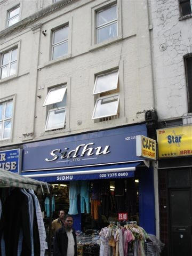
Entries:
[[54,256],[77,256],[77,239],[73,227],[73,217],[67,215],[65,226],[58,229],[54,237]]

